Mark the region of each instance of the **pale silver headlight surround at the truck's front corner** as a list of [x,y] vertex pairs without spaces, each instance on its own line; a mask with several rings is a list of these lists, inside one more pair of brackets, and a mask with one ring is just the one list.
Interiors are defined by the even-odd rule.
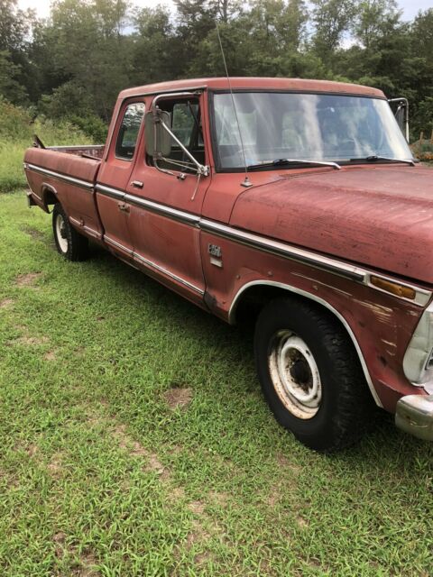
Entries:
[[414,385],[423,386],[433,380],[433,304],[419,319],[404,355],[403,370]]

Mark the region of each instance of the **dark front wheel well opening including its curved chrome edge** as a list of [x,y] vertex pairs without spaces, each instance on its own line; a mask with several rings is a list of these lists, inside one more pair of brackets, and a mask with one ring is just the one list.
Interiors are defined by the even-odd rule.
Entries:
[[323,301],[319,301],[318,298],[314,296],[309,296],[309,293],[302,293],[298,289],[291,289],[290,287],[284,287],[277,283],[272,284],[272,281],[263,284],[259,281],[257,283],[252,283],[251,286],[244,289],[244,291],[239,295],[239,297],[234,301],[232,309],[230,310],[230,323],[244,323],[247,325],[254,324],[263,307],[275,298],[290,298],[291,300],[298,302],[308,302],[310,307],[315,307],[321,315],[331,318],[334,322],[341,326],[345,334],[349,338],[349,342],[355,348],[355,352],[361,362],[365,380],[367,381],[368,387],[373,395],[376,404],[382,407],[380,398],[373,387],[373,382],[368,371],[367,365],[364,360],[364,355],[361,351],[359,343],[356,341],[355,334],[349,325],[345,322],[343,316],[341,316],[333,307],[327,307],[327,304]]

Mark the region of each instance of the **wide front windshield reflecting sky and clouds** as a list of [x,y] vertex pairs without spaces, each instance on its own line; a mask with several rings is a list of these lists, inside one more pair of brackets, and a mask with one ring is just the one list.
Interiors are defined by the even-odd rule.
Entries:
[[[244,168],[279,159],[411,159],[386,100],[278,92],[214,95],[217,165]],[[236,114],[235,114],[236,113]],[[285,168],[290,168],[287,165]]]

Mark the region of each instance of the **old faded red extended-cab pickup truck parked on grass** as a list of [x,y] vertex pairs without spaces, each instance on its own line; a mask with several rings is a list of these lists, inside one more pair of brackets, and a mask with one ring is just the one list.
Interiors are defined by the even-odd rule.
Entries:
[[380,90],[205,78],[124,90],[106,146],[25,152],[57,248],[88,240],[191,302],[255,321],[277,420],[355,442],[375,405],[433,440],[433,186]]

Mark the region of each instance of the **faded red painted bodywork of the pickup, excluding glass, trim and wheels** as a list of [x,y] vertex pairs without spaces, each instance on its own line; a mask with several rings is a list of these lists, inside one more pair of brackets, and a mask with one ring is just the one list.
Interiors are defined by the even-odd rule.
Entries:
[[[374,88],[318,80],[232,78],[231,83],[234,88],[384,97]],[[29,149],[25,162],[433,289],[433,190],[427,169],[275,169],[253,172],[253,187],[244,188],[244,175],[216,173],[212,156],[207,90],[226,87],[226,78],[200,78],[124,90],[115,105],[102,161],[81,158],[79,151]],[[197,190],[195,177],[176,179],[146,163],[143,125],[134,159],[115,158],[115,136],[126,104],[143,102],[149,110],[155,95],[190,88],[201,90],[206,163],[211,169]],[[321,299],[355,335],[384,408],[393,411],[401,396],[422,394],[406,379],[402,359],[423,307],[33,169],[26,174],[39,206],[45,206],[55,189],[82,234],[92,236],[86,229],[90,228],[117,256],[224,320],[229,320],[238,292],[253,281],[281,283]],[[143,188],[134,188],[134,180],[142,181]],[[110,239],[122,246],[115,247]],[[212,264],[208,244],[220,247],[222,267]]]

